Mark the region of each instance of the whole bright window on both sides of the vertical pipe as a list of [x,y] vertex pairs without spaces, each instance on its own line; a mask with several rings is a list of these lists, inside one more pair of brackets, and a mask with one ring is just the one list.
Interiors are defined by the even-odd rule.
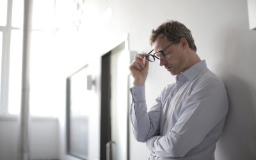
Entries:
[[[20,113],[22,83],[22,22],[24,0],[0,0],[0,113]],[[31,115],[56,116],[54,93],[49,92],[50,57],[57,28],[54,24],[56,0],[34,0],[30,52]],[[4,45],[3,45],[4,44]],[[2,52],[3,51],[3,52]],[[46,65],[47,64],[47,65]],[[48,80],[47,80],[48,79]],[[47,90],[48,89],[48,90]],[[47,99],[47,100],[45,100]],[[48,103],[47,103],[48,102]]]

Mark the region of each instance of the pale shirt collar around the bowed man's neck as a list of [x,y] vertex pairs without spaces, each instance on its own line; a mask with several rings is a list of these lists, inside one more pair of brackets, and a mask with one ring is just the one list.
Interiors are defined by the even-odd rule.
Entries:
[[196,63],[195,65],[193,65],[192,67],[188,68],[184,72],[182,72],[180,75],[183,75],[186,78],[188,78],[189,80],[192,80],[196,76],[198,76],[198,74],[200,74],[200,72],[205,70],[205,68],[207,68],[206,62],[205,62],[205,60],[202,60],[202,61],[199,61],[198,63]]

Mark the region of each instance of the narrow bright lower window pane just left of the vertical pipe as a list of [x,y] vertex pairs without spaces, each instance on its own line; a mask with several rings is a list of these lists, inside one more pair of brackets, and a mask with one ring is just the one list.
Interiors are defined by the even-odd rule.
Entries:
[[8,111],[10,114],[19,114],[21,98],[22,72],[22,32],[12,30],[10,49],[9,99]]

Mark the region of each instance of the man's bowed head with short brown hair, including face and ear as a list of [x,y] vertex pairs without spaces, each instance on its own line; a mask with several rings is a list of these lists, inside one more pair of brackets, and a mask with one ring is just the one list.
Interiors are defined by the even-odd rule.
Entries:
[[190,30],[180,22],[170,20],[153,29],[150,44],[155,56],[161,59],[160,65],[172,75],[178,75],[200,61]]

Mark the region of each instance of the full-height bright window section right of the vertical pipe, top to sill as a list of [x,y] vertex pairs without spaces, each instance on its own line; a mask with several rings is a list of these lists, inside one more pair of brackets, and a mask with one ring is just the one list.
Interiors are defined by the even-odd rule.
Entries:
[[[31,33],[31,58],[30,58],[30,113],[36,116],[56,116],[58,104],[54,74],[52,67],[56,61],[54,54],[55,28],[55,4],[54,0],[34,0]],[[55,73],[56,74],[56,73]]]

